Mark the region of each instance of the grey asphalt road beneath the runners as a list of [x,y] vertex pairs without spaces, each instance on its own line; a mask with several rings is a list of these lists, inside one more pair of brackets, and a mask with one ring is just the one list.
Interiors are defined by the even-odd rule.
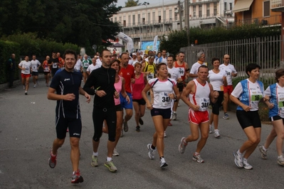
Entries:
[[[148,157],[147,144],[152,141],[154,126],[149,110],[143,117],[140,133],[135,131],[135,121],[129,121],[130,130],[120,139],[113,157],[117,173],[110,173],[104,166],[107,135],[103,134],[99,148],[99,166],[90,166],[93,136],[93,101],[90,104],[80,97],[83,132],[80,139],[80,171],[84,182],[70,183],[72,167],[70,145],[58,151],[56,168],[48,166],[48,156],[56,138],[56,102],[48,100],[48,87],[41,80],[39,87],[24,95],[21,86],[0,92],[0,188],[284,188],[284,167],[277,164],[275,142],[268,151],[268,160],[261,159],[258,148],[248,159],[253,170],[237,168],[232,152],[238,149],[246,136],[239,126],[236,115],[219,121],[221,139],[209,135],[201,151],[205,163],[196,163],[191,157],[196,142],[186,147],[184,154],[178,151],[182,136],[189,135],[187,107],[181,102],[177,121],[167,129],[164,139],[164,157],[169,164],[159,168],[159,157]],[[271,126],[263,124],[261,144]],[[157,152],[156,152],[157,154]]]

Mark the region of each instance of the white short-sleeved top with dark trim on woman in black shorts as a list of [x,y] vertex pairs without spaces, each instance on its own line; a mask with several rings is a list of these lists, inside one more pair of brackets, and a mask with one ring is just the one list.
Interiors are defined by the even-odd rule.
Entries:
[[169,94],[174,92],[173,86],[177,85],[177,81],[168,78],[167,80],[160,81],[158,78],[148,81],[154,93],[154,108],[168,109],[171,108],[172,99]]

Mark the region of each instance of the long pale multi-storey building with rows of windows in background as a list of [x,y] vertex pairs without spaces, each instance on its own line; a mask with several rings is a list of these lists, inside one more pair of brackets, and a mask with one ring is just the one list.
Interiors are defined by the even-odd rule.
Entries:
[[[233,22],[234,0],[189,0],[189,27],[211,28]],[[168,1],[122,8],[111,21],[120,23],[122,33],[140,49],[141,41],[167,36],[172,30],[184,29],[184,1]]]

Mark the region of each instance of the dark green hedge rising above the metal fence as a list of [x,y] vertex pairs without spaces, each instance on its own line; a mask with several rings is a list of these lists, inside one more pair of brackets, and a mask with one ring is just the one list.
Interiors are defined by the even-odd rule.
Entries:
[[[190,28],[189,41],[198,45],[206,43],[216,43],[222,41],[233,41],[246,38],[258,38],[265,36],[280,36],[280,26],[259,27],[258,25],[236,26],[230,29],[216,27],[210,29]],[[159,50],[167,49],[169,53],[177,53],[180,48],[186,47],[188,37],[186,31],[172,31],[168,38],[160,37],[161,45]]]

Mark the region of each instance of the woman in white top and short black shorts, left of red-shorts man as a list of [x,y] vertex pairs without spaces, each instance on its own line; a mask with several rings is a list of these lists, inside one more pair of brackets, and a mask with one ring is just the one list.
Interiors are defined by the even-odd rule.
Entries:
[[[151,104],[146,95],[146,92],[151,88],[154,93],[154,104]],[[152,144],[147,145],[149,150],[148,155],[150,159],[153,159],[154,151],[157,146],[160,167],[164,168],[167,166],[164,160],[164,131],[167,129],[171,117],[172,99],[179,98],[177,81],[168,78],[168,70],[165,63],[159,63],[159,65],[157,65],[157,78],[148,81],[146,87],[142,90],[142,97],[146,102],[147,109],[151,109],[151,115],[156,129]]]

